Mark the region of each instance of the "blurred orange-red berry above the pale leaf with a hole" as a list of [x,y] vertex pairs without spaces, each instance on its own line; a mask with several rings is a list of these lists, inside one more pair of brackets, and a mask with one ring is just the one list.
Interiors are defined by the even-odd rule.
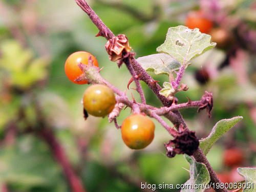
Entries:
[[208,33],[213,24],[211,20],[205,18],[200,11],[191,12],[186,17],[186,26],[189,29],[199,28],[201,33]]

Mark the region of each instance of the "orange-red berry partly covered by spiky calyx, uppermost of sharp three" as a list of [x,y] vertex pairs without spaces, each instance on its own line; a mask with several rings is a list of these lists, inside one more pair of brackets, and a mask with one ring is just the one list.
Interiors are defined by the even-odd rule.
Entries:
[[82,71],[78,67],[78,63],[83,63],[84,65],[88,65],[88,58],[89,56],[92,56],[93,65],[98,67],[98,61],[96,58],[86,51],[78,51],[75,53],[72,53],[65,62],[65,73],[69,80],[76,84],[86,84],[88,83],[87,80],[82,81],[75,81],[77,77],[79,77],[82,74]]

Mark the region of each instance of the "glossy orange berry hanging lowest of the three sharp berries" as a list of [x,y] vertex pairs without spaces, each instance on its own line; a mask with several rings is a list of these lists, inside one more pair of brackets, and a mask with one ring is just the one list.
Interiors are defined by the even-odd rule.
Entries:
[[124,119],[121,125],[123,142],[134,150],[140,150],[154,139],[155,124],[150,118],[133,114]]

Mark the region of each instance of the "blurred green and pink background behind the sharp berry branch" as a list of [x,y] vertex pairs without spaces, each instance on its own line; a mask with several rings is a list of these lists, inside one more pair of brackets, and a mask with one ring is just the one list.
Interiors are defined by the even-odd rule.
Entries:
[[[210,119],[205,111],[181,110],[198,138],[208,136],[223,118],[244,117],[207,155],[217,173],[231,173],[234,168],[223,163],[226,148],[241,150],[244,160],[238,166],[256,165],[254,1],[97,0],[89,4],[114,34],[129,38],[136,58],[155,54],[167,29],[185,25],[186,15],[193,10],[203,10],[214,28],[227,30],[232,41],[194,59],[182,80],[189,90],[176,96],[182,103],[186,96],[200,100],[204,91],[213,92]],[[71,53],[92,53],[104,67],[101,75],[122,91],[131,78],[125,66],[118,69],[109,60],[106,40],[95,37],[97,33],[73,0],[0,0],[0,191],[74,191],[63,171],[66,164],[56,155],[59,146],[87,191],[141,191],[141,182],[182,184],[189,178],[182,155],[166,157],[163,143],[172,138],[158,122],[154,121],[152,144],[134,151],[122,142],[120,130],[108,118],[83,119],[81,98],[88,85],[74,84],[66,77],[64,63]],[[164,75],[150,75],[161,86],[168,81]],[[153,92],[141,84],[147,103],[160,107]],[[134,82],[130,87],[135,87]],[[129,98],[131,94],[139,101],[135,91],[127,91]],[[122,111],[118,123],[130,113],[130,109]],[[54,139],[57,145],[51,142]],[[237,175],[232,172],[230,182],[236,180],[232,176]]]

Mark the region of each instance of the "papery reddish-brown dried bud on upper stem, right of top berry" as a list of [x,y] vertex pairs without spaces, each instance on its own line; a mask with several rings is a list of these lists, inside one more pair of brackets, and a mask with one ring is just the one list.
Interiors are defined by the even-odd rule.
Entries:
[[119,34],[117,37],[115,36],[106,42],[105,49],[110,55],[110,60],[117,61],[122,58],[123,50],[130,52],[132,48],[129,45],[127,37]]

